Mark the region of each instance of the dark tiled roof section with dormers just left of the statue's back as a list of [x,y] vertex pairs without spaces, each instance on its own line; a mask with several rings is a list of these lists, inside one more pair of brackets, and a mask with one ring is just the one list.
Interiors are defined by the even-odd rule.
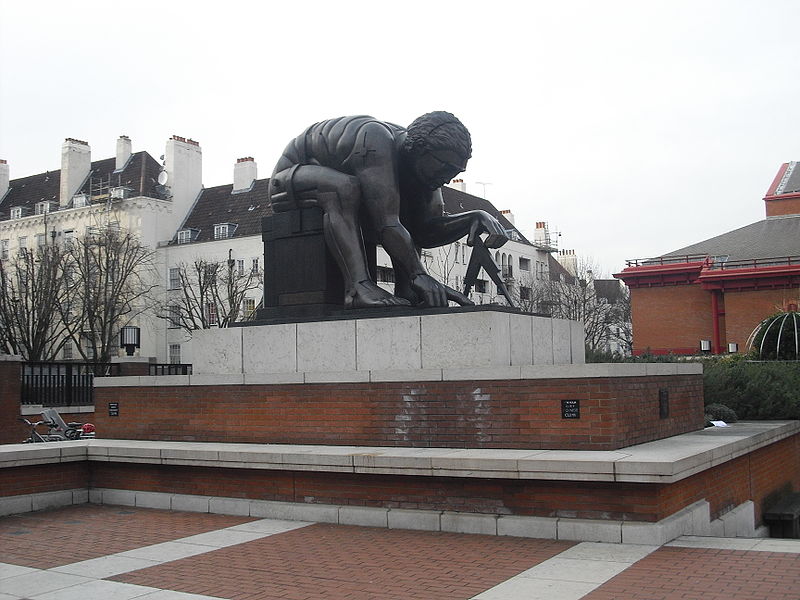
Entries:
[[249,190],[233,193],[233,184],[205,188],[180,229],[193,229],[194,242],[214,239],[214,225],[234,223],[228,237],[261,235],[261,217],[272,214],[267,190],[269,179],[256,179]]

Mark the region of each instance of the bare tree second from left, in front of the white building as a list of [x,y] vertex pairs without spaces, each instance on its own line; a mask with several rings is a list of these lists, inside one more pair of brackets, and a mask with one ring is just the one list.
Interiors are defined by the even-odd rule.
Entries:
[[98,228],[66,246],[61,316],[84,360],[116,355],[119,330],[151,310],[155,253],[129,232]]

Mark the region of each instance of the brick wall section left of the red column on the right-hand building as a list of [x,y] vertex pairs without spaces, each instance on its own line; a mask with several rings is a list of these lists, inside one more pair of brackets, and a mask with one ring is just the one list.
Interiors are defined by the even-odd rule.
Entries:
[[713,340],[711,294],[699,285],[632,288],[631,311],[636,354],[694,353]]

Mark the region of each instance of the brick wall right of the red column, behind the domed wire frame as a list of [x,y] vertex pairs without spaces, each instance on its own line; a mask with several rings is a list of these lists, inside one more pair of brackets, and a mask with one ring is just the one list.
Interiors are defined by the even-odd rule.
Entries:
[[746,350],[747,338],[753,329],[769,315],[783,310],[790,301],[798,302],[800,289],[755,290],[725,292],[727,337]]

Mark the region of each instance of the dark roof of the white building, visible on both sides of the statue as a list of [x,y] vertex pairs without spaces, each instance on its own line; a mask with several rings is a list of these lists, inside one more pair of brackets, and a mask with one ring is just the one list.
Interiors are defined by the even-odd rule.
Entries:
[[[272,214],[267,197],[269,179],[256,179],[248,191],[233,193],[233,184],[206,188],[180,229],[193,229],[193,242],[207,242],[214,239],[214,225],[235,223],[236,229],[229,237],[261,235],[261,218]],[[494,205],[483,198],[472,196],[449,187],[442,188],[444,209],[448,214],[467,210],[484,210],[495,217],[506,229],[519,230],[503,216]],[[519,233],[519,240],[530,244]]]

